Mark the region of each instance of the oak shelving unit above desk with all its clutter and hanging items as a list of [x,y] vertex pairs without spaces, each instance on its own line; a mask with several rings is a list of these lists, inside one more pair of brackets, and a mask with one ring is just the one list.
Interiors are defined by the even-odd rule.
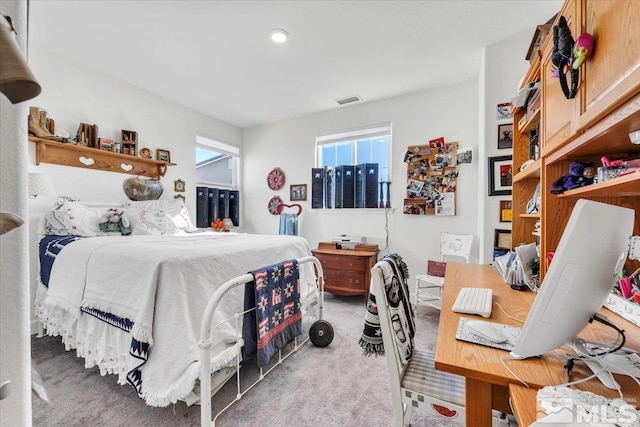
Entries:
[[[520,102],[513,103],[514,246],[537,240],[541,254],[554,252],[579,199],[640,211],[640,69],[612,60],[620,46],[628,57],[640,53],[640,30],[623,19],[633,13],[640,13],[640,2],[567,0],[551,28],[557,27],[558,40],[562,33],[571,43],[561,46],[547,37],[539,57],[532,58],[516,96]],[[578,47],[569,57],[586,55],[558,66],[554,60],[566,59],[558,53],[569,45]],[[590,165],[586,179],[569,177],[576,163]],[[538,185],[540,207],[529,213]],[[640,234],[637,221],[633,232]],[[541,263],[542,277],[547,267]],[[638,267],[631,259],[625,265],[631,271]]]

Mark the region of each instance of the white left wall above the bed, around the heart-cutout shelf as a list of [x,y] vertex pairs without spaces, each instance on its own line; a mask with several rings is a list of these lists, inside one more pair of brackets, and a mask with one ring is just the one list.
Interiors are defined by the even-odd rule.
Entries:
[[[56,121],[56,128],[75,136],[80,122],[97,124],[99,135],[120,140],[122,129],[138,132],[138,148],[167,149],[171,162],[161,179],[162,199],[171,199],[173,181],[185,181],[187,208],[195,224],[195,140],[196,133],[241,146],[241,130],[205,116],[175,102],[138,89],[109,76],[95,73],[49,53],[33,49],[32,68],[42,85],[42,94],[29,105],[43,108]],[[171,84],[171,82],[167,82]],[[177,83],[176,83],[177,84]],[[26,122],[26,114],[24,115]],[[26,144],[25,144],[26,145]],[[82,201],[124,202],[122,183],[133,175],[41,163],[35,165],[35,144],[29,143],[29,171],[43,172],[58,195]],[[26,190],[25,190],[26,191]],[[31,248],[31,290],[33,301],[38,272],[36,227],[42,213],[55,197],[29,201]],[[32,316],[32,330],[35,318]]]

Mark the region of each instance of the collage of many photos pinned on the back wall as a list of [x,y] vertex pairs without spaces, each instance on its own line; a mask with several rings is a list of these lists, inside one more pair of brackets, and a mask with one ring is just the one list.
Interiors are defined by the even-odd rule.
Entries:
[[410,146],[404,161],[407,164],[404,213],[455,215],[458,143],[438,138],[427,145]]

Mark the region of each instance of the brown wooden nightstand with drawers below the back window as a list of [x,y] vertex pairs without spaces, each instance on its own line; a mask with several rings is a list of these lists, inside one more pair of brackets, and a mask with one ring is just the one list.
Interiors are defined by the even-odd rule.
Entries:
[[334,295],[369,295],[371,269],[378,261],[378,245],[338,249],[336,243],[320,242],[311,251],[322,263],[324,290]]

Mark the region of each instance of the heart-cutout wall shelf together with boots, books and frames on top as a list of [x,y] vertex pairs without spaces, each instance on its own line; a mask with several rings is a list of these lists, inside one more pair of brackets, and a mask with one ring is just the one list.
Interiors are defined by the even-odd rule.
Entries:
[[80,123],[75,139],[58,136],[55,121],[47,112],[29,108],[29,141],[36,144],[36,165],[52,163],[107,172],[159,178],[175,163],[151,158],[149,149],[137,156],[138,134],[122,130],[122,141],[98,137],[98,126]]

